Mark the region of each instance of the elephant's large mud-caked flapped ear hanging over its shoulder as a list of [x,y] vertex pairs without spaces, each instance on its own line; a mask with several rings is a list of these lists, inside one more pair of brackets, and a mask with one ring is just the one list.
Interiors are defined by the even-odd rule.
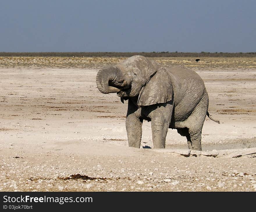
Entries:
[[147,106],[165,103],[172,100],[173,86],[166,69],[161,68],[154,74],[149,82],[142,87],[138,97],[138,106]]

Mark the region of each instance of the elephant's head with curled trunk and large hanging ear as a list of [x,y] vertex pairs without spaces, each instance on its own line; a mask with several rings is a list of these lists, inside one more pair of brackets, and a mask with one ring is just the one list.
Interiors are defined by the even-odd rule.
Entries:
[[143,56],[132,56],[115,66],[104,67],[96,77],[100,92],[117,93],[121,101],[138,96],[138,106],[164,103],[172,99],[172,85],[166,70]]

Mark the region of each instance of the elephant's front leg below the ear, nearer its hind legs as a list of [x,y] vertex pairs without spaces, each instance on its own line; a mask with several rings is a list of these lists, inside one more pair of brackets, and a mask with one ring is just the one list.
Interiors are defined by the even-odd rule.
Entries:
[[151,121],[154,148],[165,148],[168,127],[169,122],[165,121],[165,119],[161,117],[157,117]]

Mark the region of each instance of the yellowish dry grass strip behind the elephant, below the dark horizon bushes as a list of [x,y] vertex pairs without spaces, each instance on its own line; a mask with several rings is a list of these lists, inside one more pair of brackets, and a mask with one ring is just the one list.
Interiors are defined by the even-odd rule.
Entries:
[[[123,57],[0,57],[0,67],[51,67],[51,68],[99,68],[114,65]],[[202,57],[198,63],[193,57],[155,57],[157,62],[168,65],[185,65],[193,69],[255,69],[256,58],[221,58]]]

